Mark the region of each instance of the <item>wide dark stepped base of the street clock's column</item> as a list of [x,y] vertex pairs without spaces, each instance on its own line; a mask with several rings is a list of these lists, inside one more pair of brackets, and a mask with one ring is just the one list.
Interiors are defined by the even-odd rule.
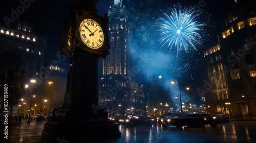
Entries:
[[104,107],[59,108],[56,117],[45,124],[42,142],[88,142],[120,137],[118,124],[110,121]]

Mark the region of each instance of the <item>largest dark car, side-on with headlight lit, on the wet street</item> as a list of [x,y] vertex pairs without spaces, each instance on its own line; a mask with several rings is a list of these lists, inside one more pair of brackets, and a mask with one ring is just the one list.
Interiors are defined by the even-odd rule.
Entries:
[[167,121],[162,124],[164,127],[176,126],[199,126],[204,127],[204,117],[198,113],[177,113],[169,117]]

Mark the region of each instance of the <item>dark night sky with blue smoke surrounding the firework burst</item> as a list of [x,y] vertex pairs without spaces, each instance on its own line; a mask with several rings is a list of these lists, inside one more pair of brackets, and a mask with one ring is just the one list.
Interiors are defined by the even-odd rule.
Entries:
[[[25,12],[19,15],[20,21],[33,23],[34,33],[47,37],[46,63],[50,63],[51,60],[59,60],[56,53],[59,51],[62,21],[67,17],[68,3],[74,4],[75,2],[74,0],[36,0],[35,2],[30,2],[30,6]],[[190,84],[202,82],[201,64],[203,51],[209,48],[209,44],[217,42],[217,34],[222,31],[221,21],[223,16],[221,14],[227,11],[227,5],[232,4],[234,1],[204,1],[204,7],[200,7],[202,19],[199,19],[199,21],[206,24],[203,35],[205,36],[205,41],[198,47],[198,51],[192,51],[189,54],[184,53],[178,58],[174,58],[173,53],[168,52],[167,48],[161,48],[158,41],[160,35],[157,27],[154,26],[157,18],[162,16],[162,12],[166,12],[167,8],[178,4],[183,7],[199,6],[200,2],[202,0],[123,0],[123,5],[129,12],[131,28],[131,68],[138,64],[139,57],[142,55],[154,59],[147,63],[145,68],[141,69],[148,75],[161,74],[166,81],[169,81],[172,77],[180,76],[182,77],[182,82]],[[104,13],[108,13],[110,4],[110,0],[99,0],[96,6],[98,14],[103,16]],[[1,25],[6,26],[4,17],[10,17],[11,9],[16,10],[20,5],[18,0],[1,2]],[[69,59],[64,62],[68,63]]]

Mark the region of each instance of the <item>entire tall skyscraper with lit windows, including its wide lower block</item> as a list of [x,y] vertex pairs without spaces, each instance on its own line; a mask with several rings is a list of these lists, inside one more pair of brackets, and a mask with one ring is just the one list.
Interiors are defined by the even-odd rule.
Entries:
[[108,15],[110,54],[103,60],[99,76],[99,104],[109,115],[143,113],[143,86],[133,82],[129,72],[130,26],[121,0],[114,1]]

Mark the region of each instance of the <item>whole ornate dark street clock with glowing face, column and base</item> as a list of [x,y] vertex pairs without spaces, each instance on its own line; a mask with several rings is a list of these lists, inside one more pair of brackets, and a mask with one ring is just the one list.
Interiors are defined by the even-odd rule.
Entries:
[[64,103],[45,124],[43,142],[62,138],[85,142],[121,135],[118,125],[98,105],[97,63],[109,54],[109,17],[99,16],[96,4],[97,0],[78,0],[70,5],[69,17],[63,22],[60,47],[62,54],[70,57],[70,71]]

